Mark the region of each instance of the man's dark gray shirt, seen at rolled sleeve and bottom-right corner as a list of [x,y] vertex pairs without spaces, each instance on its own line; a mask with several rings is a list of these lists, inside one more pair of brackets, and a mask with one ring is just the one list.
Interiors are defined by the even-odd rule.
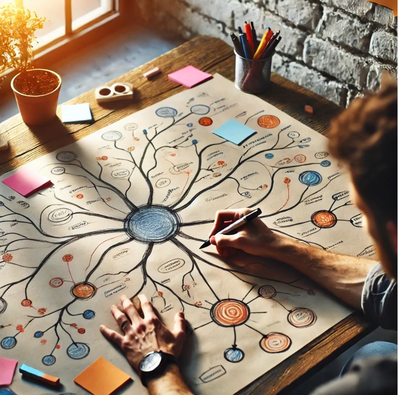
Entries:
[[[365,316],[384,329],[397,330],[397,282],[380,263],[369,272],[362,290]],[[317,388],[311,395],[397,394],[397,355],[354,361],[342,377]]]

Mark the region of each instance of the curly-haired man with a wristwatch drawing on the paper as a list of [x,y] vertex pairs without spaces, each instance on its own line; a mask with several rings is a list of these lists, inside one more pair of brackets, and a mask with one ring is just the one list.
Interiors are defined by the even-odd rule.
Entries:
[[[242,250],[286,262],[381,327],[397,329],[397,82],[354,100],[332,122],[329,137],[330,152],[348,167],[351,197],[364,215],[380,263],[309,247],[274,233],[258,218],[234,235],[214,236],[249,209],[217,212],[210,241],[222,256]],[[177,313],[174,330],[169,331],[148,299],[139,295],[139,300],[138,309],[126,297],[121,308],[111,309],[124,336],[104,326],[101,332],[122,348],[151,394],[190,394],[173,363],[185,339],[184,314]],[[147,356],[153,350],[168,355],[156,356],[163,361],[160,367],[153,368],[152,354]],[[397,393],[397,346],[387,342],[360,350],[340,378],[315,391],[317,395],[390,393]]]

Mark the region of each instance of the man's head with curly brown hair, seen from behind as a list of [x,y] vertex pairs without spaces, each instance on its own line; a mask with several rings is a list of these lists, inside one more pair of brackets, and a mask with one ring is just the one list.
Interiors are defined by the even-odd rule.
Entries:
[[332,121],[331,153],[349,169],[353,199],[387,273],[397,278],[397,81],[354,100]]

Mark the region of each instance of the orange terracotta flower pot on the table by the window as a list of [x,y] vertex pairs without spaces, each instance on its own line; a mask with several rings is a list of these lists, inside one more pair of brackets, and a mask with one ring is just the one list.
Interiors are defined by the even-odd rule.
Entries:
[[[22,119],[28,125],[42,125],[50,122],[57,114],[58,95],[61,89],[61,77],[51,70],[46,69],[32,69],[27,70],[31,77],[38,76],[40,73],[49,72],[58,78],[58,85],[51,92],[39,95],[29,95],[21,93],[14,86],[15,80],[21,75],[17,74],[11,80],[11,88],[14,91],[15,99],[17,100],[18,109],[21,113]],[[16,84],[17,85],[17,84]]]

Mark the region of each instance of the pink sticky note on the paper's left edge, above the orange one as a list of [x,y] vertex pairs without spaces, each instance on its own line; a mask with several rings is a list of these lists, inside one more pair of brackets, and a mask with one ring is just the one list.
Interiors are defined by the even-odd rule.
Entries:
[[20,170],[2,182],[25,197],[51,184],[49,178],[30,169]]

